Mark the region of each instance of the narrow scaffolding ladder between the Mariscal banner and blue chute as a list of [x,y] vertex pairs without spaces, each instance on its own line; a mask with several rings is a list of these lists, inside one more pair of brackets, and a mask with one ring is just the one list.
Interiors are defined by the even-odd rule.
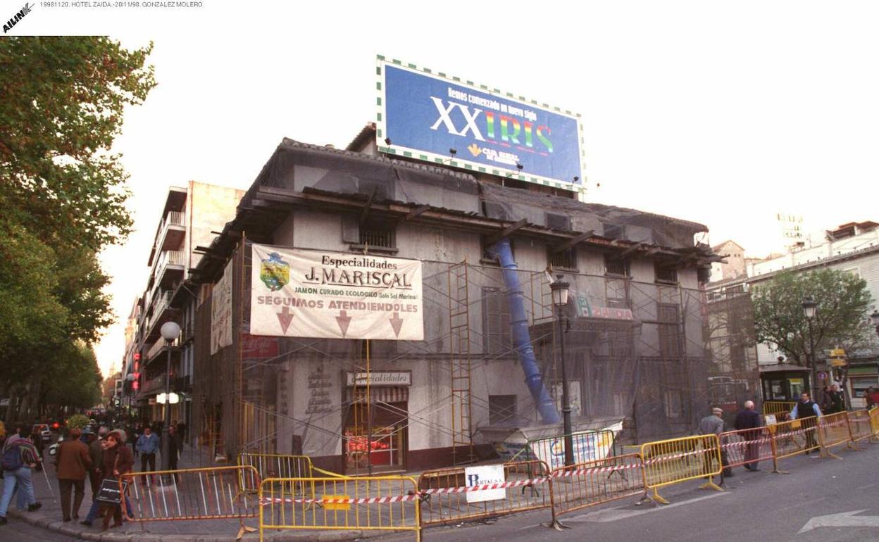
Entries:
[[470,313],[468,264],[448,270],[449,353],[452,389],[452,463],[474,461],[470,402]]

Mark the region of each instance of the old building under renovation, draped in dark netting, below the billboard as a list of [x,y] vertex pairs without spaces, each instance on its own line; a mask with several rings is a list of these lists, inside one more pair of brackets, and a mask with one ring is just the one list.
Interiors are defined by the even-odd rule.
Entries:
[[[303,453],[342,473],[486,459],[561,433],[563,363],[575,428],[690,432],[723,369],[706,348],[706,228],[572,195],[380,155],[370,126],[345,150],[285,139],[200,247],[193,433],[219,456]],[[251,335],[254,243],[418,260],[424,339]]]

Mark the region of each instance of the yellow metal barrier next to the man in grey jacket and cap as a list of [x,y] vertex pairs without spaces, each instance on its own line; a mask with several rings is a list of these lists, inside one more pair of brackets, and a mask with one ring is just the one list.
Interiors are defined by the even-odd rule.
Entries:
[[644,486],[653,490],[656,502],[668,504],[659,496],[658,488],[682,481],[707,478],[702,488],[723,491],[711,480],[723,470],[720,439],[716,435],[672,438],[641,445]]

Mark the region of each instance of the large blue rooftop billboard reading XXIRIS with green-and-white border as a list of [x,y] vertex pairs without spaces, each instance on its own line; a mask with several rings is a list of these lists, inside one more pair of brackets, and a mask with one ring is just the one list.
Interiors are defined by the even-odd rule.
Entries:
[[381,151],[582,189],[579,115],[382,57],[378,74]]

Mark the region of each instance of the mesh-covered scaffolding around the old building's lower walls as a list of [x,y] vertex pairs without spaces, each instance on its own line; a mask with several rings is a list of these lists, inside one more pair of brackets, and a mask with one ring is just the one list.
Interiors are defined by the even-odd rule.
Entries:
[[[254,337],[248,322],[251,250],[249,242],[241,246],[246,248],[233,258],[239,270],[234,344],[214,356],[214,392],[207,391],[210,385],[199,387],[209,406],[206,423],[217,427],[210,412],[222,412],[226,420],[226,434],[210,439],[222,441],[218,451],[338,456],[340,462],[326,465],[372,473],[402,469],[416,445],[450,448],[453,463],[484,459],[496,443],[481,430],[541,423],[521,384],[508,291],[496,264],[423,262],[421,342]],[[553,277],[548,270],[517,274],[541,376],[561,409]],[[716,382],[735,381],[738,373],[709,356],[706,346],[717,337],[703,329],[708,307],[700,288],[573,271],[564,279],[571,284],[565,363],[576,420],[624,420],[622,438],[637,443],[686,434],[712,404],[730,400]],[[209,311],[209,303],[207,296],[201,310]],[[370,387],[368,377],[350,386],[342,380],[347,373],[401,366],[427,372],[427,384],[388,388]],[[297,387],[302,379],[305,386]],[[416,389],[426,396],[413,401]],[[730,401],[754,393],[749,384]]]

